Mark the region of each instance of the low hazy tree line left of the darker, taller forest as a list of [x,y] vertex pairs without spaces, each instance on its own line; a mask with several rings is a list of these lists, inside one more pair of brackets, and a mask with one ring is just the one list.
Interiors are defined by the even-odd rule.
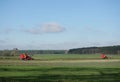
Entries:
[[27,53],[28,55],[34,54],[65,54],[66,50],[18,50],[14,48],[13,50],[0,50],[0,56],[15,56],[22,53]]

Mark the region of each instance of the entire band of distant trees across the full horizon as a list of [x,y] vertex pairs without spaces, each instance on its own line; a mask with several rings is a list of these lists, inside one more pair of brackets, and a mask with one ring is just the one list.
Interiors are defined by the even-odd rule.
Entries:
[[120,54],[120,45],[118,46],[104,46],[104,47],[84,47],[75,48],[69,50],[19,50],[14,48],[13,50],[0,50],[0,55],[10,56],[19,55],[21,53],[27,53],[29,55],[34,54]]

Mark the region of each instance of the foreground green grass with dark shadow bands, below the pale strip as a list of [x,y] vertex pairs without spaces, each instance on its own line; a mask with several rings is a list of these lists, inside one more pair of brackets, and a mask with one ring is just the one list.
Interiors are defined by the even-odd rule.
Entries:
[[[115,63],[115,62],[114,62]],[[83,63],[84,64],[84,63]],[[120,67],[0,66],[0,82],[119,82]],[[107,64],[106,64],[107,66]]]

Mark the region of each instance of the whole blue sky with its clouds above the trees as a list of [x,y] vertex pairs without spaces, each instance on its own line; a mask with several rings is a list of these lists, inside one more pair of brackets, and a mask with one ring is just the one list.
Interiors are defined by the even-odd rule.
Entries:
[[120,45],[120,0],[0,0],[0,50]]

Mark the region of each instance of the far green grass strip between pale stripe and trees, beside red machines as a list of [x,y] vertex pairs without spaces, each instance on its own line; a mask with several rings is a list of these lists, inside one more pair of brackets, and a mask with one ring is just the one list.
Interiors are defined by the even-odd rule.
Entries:
[[[111,59],[120,59],[120,55],[109,55]],[[85,60],[85,59],[100,59],[100,54],[34,54],[35,60]],[[18,56],[0,56],[0,59],[18,60]]]

